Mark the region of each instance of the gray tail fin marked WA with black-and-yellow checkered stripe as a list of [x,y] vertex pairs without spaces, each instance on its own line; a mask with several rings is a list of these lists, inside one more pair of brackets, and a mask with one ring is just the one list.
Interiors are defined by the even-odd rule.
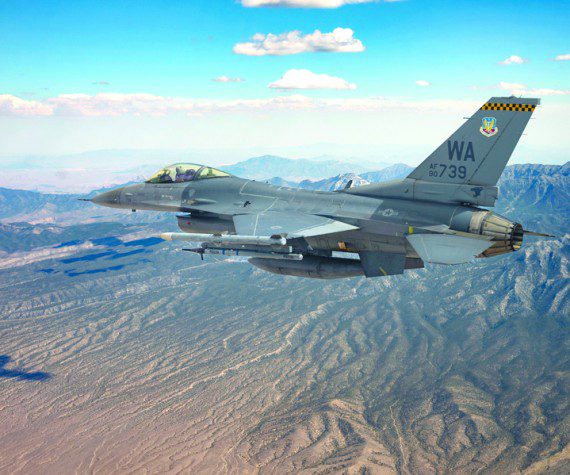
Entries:
[[540,99],[492,97],[408,178],[495,186]]

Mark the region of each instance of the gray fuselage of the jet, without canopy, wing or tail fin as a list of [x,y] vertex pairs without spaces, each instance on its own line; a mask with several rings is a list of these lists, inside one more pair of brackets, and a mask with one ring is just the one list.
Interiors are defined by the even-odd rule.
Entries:
[[468,232],[473,206],[345,192],[302,190],[237,177],[189,183],[141,183],[96,196],[93,202],[114,208],[190,213],[179,222],[185,231],[234,232],[236,215],[284,211],[329,217],[357,226],[355,231],[307,238],[318,251],[401,252],[417,257],[405,239],[422,229],[449,227]]

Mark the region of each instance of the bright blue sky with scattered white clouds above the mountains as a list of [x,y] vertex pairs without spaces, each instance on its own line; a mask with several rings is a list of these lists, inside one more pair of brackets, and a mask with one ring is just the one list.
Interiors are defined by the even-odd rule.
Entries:
[[515,94],[542,107],[513,158],[564,163],[569,24],[562,0],[0,2],[0,161],[397,149],[416,164]]

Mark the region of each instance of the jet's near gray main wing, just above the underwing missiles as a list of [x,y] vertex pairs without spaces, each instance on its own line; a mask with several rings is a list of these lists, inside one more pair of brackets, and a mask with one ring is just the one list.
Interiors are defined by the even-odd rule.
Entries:
[[320,236],[358,229],[335,219],[304,213],[266,211],[258,214],[241,214],[233,217],[238,234],[273,236],[280,234],[289,239]]

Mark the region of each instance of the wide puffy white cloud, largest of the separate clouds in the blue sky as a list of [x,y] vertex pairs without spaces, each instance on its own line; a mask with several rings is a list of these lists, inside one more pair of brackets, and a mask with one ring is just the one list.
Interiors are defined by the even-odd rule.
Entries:
[[354,38],[350,28],[335,28],[331,33],[315,30],[307,35],[300,31],[280,35],[258,33],[252,37],[252,41],[236,44],[233,51],[247,56],[283,56],[307,52],[359,53],[364,51],[364,45]]

